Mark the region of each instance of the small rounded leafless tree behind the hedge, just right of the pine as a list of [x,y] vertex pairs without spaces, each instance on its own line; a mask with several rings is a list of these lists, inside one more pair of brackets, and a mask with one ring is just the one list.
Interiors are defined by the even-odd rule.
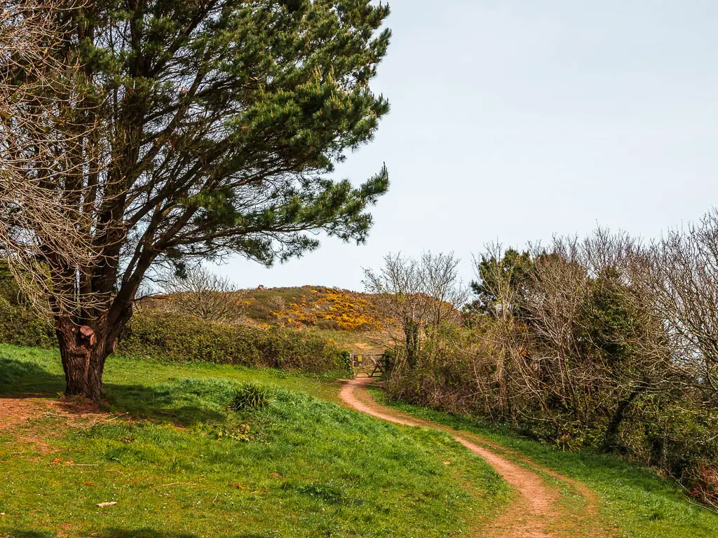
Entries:
[[208,321],[230,323],[240,319],[246,308],[246,293],[225,277],[197,267],[186,275],[170,273],[162,280],[162,291],[170,301],[170,310]]

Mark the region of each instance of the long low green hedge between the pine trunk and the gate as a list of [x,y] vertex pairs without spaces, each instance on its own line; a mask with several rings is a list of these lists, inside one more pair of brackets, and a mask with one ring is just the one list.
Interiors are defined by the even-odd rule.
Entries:
[[304,331],[228,325],[167,314],[131,319],[117,352],[130,357],[166,357],[252,367],[335,372],[344,364],[328,339]]

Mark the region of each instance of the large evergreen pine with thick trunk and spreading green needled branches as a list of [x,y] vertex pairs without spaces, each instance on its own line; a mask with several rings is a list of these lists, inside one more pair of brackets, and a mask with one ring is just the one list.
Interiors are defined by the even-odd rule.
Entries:
[[[75,231],[102,260],[73,266],[47,241],[38,260],[53,279],[67,394],[97,399],[105,359],[158,264],[182,273],[236,253],[271,265],[317,248],[318,231],[365,240],[386,169],[359,187],[330,176],[388,112],[369,82],[386,54],[389,9],[370,0],[49,9],[63,32],[50,49],[79,70],[64,123],[44,121],[77,136],[57,147],[52,175],[37,174],[30,159],[22,181],[54,193],[68,218],[86,217]],[[33,76],[4,68],[7,79]],[[72,308],[57,300],[65,292],[77,299]]]

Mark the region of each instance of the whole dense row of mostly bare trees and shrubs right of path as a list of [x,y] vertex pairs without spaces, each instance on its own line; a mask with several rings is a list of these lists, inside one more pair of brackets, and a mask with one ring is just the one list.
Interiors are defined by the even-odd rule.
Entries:
[[718,501],[717,213],[648,245],[597,230],[475,266],[460,324],[409,324],[428,330],[397,346],[393,397],[620,453]]

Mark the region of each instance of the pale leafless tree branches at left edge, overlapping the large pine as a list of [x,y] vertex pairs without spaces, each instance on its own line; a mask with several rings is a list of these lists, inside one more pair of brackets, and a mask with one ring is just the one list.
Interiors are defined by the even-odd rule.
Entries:
[[4,2],[0,16],[0,256],[46,318],[103,303],[79,285],[103,258],[80,179],[101,171],[97,103],[77,60],[60,54],[68,29],[58,13],[78,5]]

